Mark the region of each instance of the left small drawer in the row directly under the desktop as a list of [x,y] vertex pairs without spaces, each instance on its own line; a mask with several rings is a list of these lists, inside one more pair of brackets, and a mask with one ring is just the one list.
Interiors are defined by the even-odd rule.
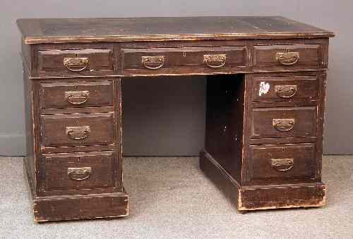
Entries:
[[32,47],[32,75],[102,76],[116,75],[114,44],[36,44]]

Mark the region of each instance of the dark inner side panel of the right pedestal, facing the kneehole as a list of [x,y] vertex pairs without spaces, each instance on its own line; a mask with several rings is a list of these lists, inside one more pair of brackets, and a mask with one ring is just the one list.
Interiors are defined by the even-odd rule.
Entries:
[[209,76],[207,80],[205,148],[235,179],[240,180],[243,150],[244,78]]

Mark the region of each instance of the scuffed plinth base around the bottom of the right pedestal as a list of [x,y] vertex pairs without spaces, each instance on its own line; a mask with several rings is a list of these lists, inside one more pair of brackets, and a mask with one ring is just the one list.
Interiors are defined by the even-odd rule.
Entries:
[[326,187],[323,183],[242,186],[205,150],[200,154],[205,175],[223,191],[239,212],[292,207],[323,207]]

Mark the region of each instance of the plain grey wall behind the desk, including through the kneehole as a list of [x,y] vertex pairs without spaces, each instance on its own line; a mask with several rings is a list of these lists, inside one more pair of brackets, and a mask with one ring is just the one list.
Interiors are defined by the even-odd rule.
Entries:
[[[25,150],[17,18],[212,15],[280,15],[336,32],[330,47],[324,146],[330,154],[352,154],[352,8],[352,1],[343,0],[1,0],[0,154],[20,155]],[[125,83],[125,153],[197,154],[204,137],[204,81],[186,79],[179,85],[158,78],[151,86],[147,80]],[[148,92],[155,93],[148,97]]]

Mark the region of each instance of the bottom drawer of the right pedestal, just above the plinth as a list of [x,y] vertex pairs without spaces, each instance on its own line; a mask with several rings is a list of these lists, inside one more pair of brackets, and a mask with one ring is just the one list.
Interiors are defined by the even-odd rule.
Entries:
[[316,179],[313,144],[251,146],[250,181],[292,183]]

